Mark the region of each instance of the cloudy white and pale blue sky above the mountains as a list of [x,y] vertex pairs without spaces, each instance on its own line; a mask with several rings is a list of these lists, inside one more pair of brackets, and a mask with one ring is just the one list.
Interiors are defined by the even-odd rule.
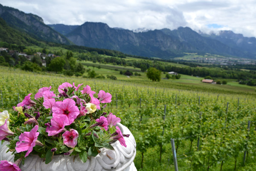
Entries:
[[[75,2],[75,3],[74,3]],[[81,25],[86,21],[124,29],[232,30],[256,37],[256,0],[0,0],[46,24]]]

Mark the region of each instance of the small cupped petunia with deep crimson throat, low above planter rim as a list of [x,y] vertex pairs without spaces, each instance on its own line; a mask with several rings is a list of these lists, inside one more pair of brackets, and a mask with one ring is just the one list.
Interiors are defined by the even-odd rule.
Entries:
[[77,145],[78,132],[77,130],[70,129],[62,134],[64,145],[67,145],[70,148],[75,148]]

